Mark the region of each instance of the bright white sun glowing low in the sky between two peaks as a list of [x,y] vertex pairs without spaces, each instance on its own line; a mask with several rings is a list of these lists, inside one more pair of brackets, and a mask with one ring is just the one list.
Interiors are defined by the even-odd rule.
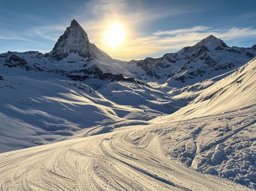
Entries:
[[114,48],[118,47],[125,38],[124,27],[119,23],[109,25],[105,33],[105,43]]

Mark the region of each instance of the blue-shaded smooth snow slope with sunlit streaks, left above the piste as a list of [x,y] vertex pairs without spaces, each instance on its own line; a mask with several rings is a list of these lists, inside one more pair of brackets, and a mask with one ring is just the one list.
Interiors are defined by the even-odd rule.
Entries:
[[82,136],[88,128],[161,112],[116,104],[53,73],[0,67],[0,152]]

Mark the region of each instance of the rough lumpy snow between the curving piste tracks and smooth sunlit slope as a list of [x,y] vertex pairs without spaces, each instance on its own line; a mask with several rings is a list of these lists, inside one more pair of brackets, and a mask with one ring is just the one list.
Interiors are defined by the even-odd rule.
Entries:
[[155,134],[172,161],[256,189],[256,106],[185,120],[166,116],[156,124],[150,122],[149,131],[138,129],[131,139],[141,137],[137,142],[147,144]]

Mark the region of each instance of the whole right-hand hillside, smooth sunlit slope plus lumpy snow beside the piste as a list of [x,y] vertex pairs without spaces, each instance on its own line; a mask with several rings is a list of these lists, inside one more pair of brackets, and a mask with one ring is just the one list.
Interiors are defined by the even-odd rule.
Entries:
[[173,159],[256,189],[255,92],[256,58],[201,90],[188,106],[150,122],[172,121],[171,136],[163,133],[162,140]]

